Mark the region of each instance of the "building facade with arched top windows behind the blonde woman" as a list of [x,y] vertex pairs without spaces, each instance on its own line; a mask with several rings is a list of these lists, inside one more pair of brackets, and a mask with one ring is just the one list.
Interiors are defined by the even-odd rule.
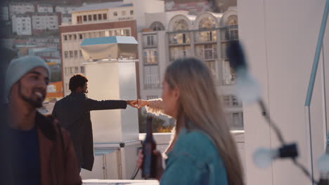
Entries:
[[233,130],[243,130],[242,103],[236,97],[235,74],[226,57],[226,44],[238,40],[238,12],[187,11],[146,14],[148,25],[138,33],[141,98],[161,97],[167,65],[182,57],[197,57],[209,67]]

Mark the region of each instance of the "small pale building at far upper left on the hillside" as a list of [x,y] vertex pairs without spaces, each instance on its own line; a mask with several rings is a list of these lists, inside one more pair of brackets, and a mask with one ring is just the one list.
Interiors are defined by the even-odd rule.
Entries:
[[11,17],[13,25],[13,33],[18,35],[31,35],[32,34],[32,22],[31,17],[27,15],[13,15]]

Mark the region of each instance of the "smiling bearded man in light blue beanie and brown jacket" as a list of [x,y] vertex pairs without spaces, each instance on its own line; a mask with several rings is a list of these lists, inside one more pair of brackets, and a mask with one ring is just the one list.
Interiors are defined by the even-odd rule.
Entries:
[[[75,150],[56,120],[37,111],[46,97],[50,70],[40,57],[12,60],[6,70],[4,102],[9,184],[82,184]],[[11,176],[11,177],[9,177]]]

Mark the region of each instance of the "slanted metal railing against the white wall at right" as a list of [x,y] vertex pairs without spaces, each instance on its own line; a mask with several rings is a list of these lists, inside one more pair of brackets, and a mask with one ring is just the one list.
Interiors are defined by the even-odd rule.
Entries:
[[[311,167],[311,175],[314,177],[314,158],[313,158],[313,147],[312,147],[312,133],[311,133],[311,100],[312,100],[312,95],[313,95],[313,90],[314,90],[314,83],[316,80],[316,71],[318,69],[318,62],[320,60],[320,55],[321,55],[321,51],[322,54],[324,53],[323,50],[323,36],[325,34],[325,26],[326,26],[326,22],[328,19],[328,11],[329,11],[329,0],[326,1],[325,3],[325,8],[324,8],[324,12],[323,12],[323,18],[321,21],[321,28],[320,28],[320,33],[318,34],[318,41],[316,44],[316,52],[314,55],[314,60],[313,60],[313,66],[312,66],[312,70],[311,70],[311,77],[309,79],[309,87],[307,90],[307,97],[305,100],[305,120],[307,123],[307,135],[309,137],[309,141],[308,141],[308,147],[310,149],[310,158],[311,160],[309,163],[309,166]],[[324,54],[323,54],[324,56]],[[323,57],[324,59],[324,57]],[[323,64],[324,64],[324,60],[323,60]],[[324,67],[323,67],[323,74],[324,74]],[[325,79],[325,78],[323,78]],[[323,90],[324,90],[324,94],[323,94],[323,101],[325,102],[325,83],[323,81]],[[326,108],[325,106],[323,107],[323,114],[325,115],[325,121],[326,121]],[[328,130],[325,130],[326,132]],[[328,144],[327,144],[328,145]]]

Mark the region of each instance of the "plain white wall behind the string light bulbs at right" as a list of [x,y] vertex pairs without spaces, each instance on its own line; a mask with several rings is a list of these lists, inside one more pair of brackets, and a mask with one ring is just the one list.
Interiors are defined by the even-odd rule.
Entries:
[[[287,142],[297,142],[298,160],[308,170],[311,170],[311,155],[304,102],[324,6],[325,0],[238,0],[240,40],[252,75],[262,87],[262,97],[269,107],[267,114],[278,124]],[[325,41],[328,41],[328,24],[326,33]],[[328,42],[324,44],[328,53]],[[311,107],[314,162],[324,149],[319,71],[321,65]],[[311,184],[288,160],[276,160],[264,170],[254,165],[252,154],[259,146],[276,149],[280,144],[256,104],[245,105],[243,109],[247,184]]]

